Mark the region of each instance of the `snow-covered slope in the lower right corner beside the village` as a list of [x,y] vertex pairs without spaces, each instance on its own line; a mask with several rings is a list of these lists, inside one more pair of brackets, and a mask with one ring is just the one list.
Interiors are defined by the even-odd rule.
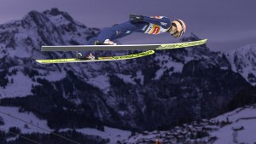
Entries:
[[228,121],[229,123],[212,131],[218,143],[255,143],[256,142],[256,105],[237,108],[232,112],[213,118],[212,120]]

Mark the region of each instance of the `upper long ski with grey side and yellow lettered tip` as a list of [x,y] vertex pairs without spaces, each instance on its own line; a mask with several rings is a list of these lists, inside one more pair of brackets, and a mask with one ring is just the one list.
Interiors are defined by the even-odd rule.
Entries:
[[129,44],[129,45],[68,45],[68,46],[42,46],[41,51],[96,51],[96,50],[153,50],[178,49],[197,46],[207,43],[207,39],[184,43],[166,44]]

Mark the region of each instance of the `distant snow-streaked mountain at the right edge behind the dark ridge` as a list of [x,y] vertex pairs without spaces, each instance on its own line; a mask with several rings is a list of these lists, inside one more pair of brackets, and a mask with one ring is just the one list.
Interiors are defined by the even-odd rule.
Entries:
[[239,72],[253,85],[256,84],[256,44],[248,44],[226,54],[232,70]]

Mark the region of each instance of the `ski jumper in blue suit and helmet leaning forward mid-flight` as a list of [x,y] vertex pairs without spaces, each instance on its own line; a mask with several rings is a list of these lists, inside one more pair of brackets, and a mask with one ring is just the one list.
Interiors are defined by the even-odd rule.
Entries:
[[[130,14],[130,20],[103,29],[97,37],[90,38],[87,45],[116,45],[113,41],[131,35],[133,32],[142,32],[157,35],[169,32],[172,37],[181,37],[186,31],[183,20],[169,20],[165,16],[143,16]],[[77,58],[82,60],[95,60],[95,56],[88,51],[77,53]]]

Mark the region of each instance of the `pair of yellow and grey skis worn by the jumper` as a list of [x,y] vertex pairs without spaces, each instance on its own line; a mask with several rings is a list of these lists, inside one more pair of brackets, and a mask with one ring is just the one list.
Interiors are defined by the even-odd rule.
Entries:
[[185,43],[166,43],[166,44],[131,44],[131,45],[76,45],[76,46],[43,46],[41,51],[87,51],[87,50],[147,50],[142,53],[122,56],[98,57],[98,60],[79,60],[76,58],[37,60],[41,64],[69,63],[69,62],[91,62],[91,61],[109,61],[109,60],[129,60],[147,55],[153,55],[154,49],[179,49],[198,46],[207,43],[207,39]]

